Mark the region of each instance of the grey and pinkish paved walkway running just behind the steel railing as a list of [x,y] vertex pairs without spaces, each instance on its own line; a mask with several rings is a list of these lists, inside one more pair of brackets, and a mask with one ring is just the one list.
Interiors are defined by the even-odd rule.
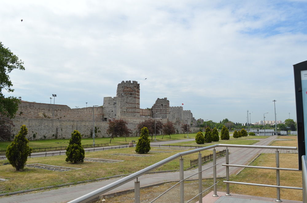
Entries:
[[[260,142],[257,142],[255,145],[269,145],[277,136],[271,136],[269,138],[262,139]],[[181,141],[181,140],[180,140]],[[186,139],[184,141],[187,141]],[[184,142],[181,141],[181,142]],[[163,142],[165,143],[165,142]],[[221,147],[218,147],[217,150],[221,150]],[[263,152],[263,149],[251,149],[251,148],[229,148],[229,162],[230,164],[240,164],[245,165],[251,162],[259,153]],[[226,169],[222,166],[222,163],[225,163],[225,157],[217,159],[217,176],[218,177],[225,177],[226,176]],[[212,166],[212,163],[206,164],[208,166]],[[204,165],[203,169],[208,167]],[[240,168],[230,167],[229,172],[230,174],[237,174]],[[185,171],[185,177],[192,175],[193,173],[198,172],[198,169],[188,170]],[[208,170],[203,172],[203,178],[212,177],[213,171]],[[196,179],[192,177],[192,179]],[[120,178],[114,179],[107,179],[102,181],[91,182],[87,184],[78,184],[73,186],[62,187],[56,190],[49,190],[49,191],[39,191],[36,193],[29,193],[29,194],[19,194],[19,195],[11,195],[9,197],[2,197],[0,198],[1,203],[16,203],[16,202],[23,202],[23,203],[62,203],[71,201],[77,197],[80,197],[84,194],[90,193],[94,190],[99,189],[100,187],[106,186]],[[179,179],[179,172],[165,172],[165,173],[155,173],[155,174],[146,174],[142,175],[138,178],[140,181],[141,186],[151,185],[155,183],[161,183],[165,181],[172,181]],[[130,181],[118,188],[109,191],[107,194],[112,194],[115,192],[119,192],[122,190],[132,189],[134,188],[134,181]]]

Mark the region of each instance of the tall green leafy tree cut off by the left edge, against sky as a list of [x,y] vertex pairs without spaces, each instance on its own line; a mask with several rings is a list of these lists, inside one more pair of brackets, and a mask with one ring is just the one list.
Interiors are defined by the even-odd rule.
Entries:
[[11,88],[13,84],[8,74],[14,69],[24,70],[22,64],[23,62],[0,42],[0,114],[10,118],[13,118],[18,110],[19,99],[16,97],[5,98],[2,89],[7,92],[14,91]]

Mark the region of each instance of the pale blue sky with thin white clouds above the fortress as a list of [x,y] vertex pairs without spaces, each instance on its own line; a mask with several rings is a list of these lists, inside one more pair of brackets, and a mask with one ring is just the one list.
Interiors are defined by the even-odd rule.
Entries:
[[196,119],[245,123],[249,110],[255,123],[275,120],[276,100],[277,120],[296,120],[306,10],[304,0],[1,1],[0,41],[25,67],[4,95],[84,108],[135,80],[143,109],[167,97]]

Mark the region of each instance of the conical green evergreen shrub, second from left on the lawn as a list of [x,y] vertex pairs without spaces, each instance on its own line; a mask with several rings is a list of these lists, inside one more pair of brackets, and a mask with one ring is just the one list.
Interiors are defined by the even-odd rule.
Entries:
[[81,145],[81,134],[79,131],[74,130],[72,137],[69,139],[69,144],[66,149],[66,160],[73,163],[83,162],[85,157],[84,149]]

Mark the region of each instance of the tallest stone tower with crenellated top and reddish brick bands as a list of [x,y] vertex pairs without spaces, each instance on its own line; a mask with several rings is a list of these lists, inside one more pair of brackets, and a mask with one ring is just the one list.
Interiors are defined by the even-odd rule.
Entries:
[[140,117],[140,84],[131,80],[119,83],[116,102],[116,117]]

